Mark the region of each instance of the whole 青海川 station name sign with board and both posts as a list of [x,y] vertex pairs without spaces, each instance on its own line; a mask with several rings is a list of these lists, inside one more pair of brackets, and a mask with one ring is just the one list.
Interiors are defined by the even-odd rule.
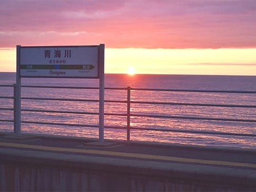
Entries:
[[21,77],[99,78],[99,141],[104,142],[104,48],[17,45],[14,132],[21,134]]

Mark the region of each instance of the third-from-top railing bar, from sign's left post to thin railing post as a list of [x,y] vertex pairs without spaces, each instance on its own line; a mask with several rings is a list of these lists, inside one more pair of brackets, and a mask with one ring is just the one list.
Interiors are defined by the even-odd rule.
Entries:
[[[1,108],[0,108],[1,109]],[[65,114],[83,114],[83,115],[99,115],[99,113],[95,112],[67,112],[64,110],[42,110],[42,109],[21,109],[23,112],[45,112],[45,113],[65,113]],[[127,116],[126,114],[119,113],[104,113],[104,115],[112,115],[112,116]]]

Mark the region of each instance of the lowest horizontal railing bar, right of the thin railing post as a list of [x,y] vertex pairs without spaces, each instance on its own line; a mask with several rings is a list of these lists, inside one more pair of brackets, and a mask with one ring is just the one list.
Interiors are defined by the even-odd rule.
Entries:
[[248,136],[248,137],[256,137],[256,134],[243,134],[243,133],[230,133],[230,132],[208,132],[201,130],[188,130],[188,129],[161,129],[161,128],[139,128],[139,127],[131,127],[134,130],[157,130],[163,132],[179,132],[179,133],[197,133],[197,134],[210,134],[210,135],[231,135],[231,136]]

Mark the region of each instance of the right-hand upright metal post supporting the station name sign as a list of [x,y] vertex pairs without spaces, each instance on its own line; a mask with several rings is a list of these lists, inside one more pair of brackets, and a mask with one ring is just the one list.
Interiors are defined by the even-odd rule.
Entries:
[[100,109],[99,109],[99,142],[104,142],[104,44],[100,44],[99,75],[100,75]]

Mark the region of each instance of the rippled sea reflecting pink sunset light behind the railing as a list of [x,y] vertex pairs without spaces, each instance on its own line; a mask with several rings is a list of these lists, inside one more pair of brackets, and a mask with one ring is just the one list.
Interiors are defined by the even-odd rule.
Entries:
[[[0,73],[0,85],[15,84],[15,73]],[[22,78],[22,85],[99,87],[99,79],[75,78]],[[105,87],[164,88],[196,90],[256,90],[256,76],[211,76],[211,75],[126,75],[105,74]],[[0,87],[1,96],[12,96],[13,87]],[[22,97],[99,99],[98,89],[27,88],[22,87]],[[126,100],[127,90],[105,89],[105,100]],[[256,105],[256,94],[164,92],[158,90],[131,90],[131,100],[147,102],[175,102],[200,104]],[[57,100],[22,99],[22,109],[61,110],[99,113],[99,102],[71,102]],[[125,103],[105,103],[105,113],[127,113]],[[13,108],[13,99],[0,98],[0,108]],[[232,119],[256,119],[255,108],[209,107],[183,105],[131,104],[132,114],[170,115],[182,117],[209,117]],[[0,110],[0,119],[13,119],[12,110]],[[99,125],[98,115],[22,112],[22,121],[65,124]],[[125,116],[105,115],[105,126],[126,126]],[[208,132],[256,134],[256,123],[228,122],[200,119],[171,119],[131,117],[131,140],[256,149],[252,136],[230,136],[165,132],[159,129],[200,130]],[[143,130],[155,128],[157,130]],[[60,126],[22,123],[22,133],[63,135],[98,138],[96,127]],[[13,132],[12,122],[1,122],[0,131]],[[125,129],[105,128],[104,138],[126,140]]]

